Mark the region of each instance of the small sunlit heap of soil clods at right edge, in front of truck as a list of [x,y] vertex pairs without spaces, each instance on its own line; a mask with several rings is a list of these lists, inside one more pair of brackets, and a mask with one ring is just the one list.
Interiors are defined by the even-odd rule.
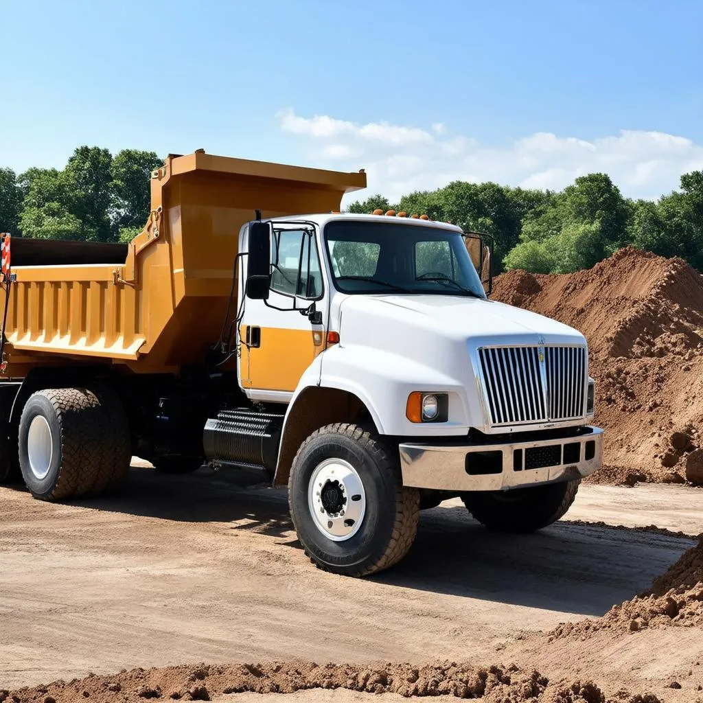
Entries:
[[665,574],[654,579],[648,591],[615,605],[598,620],[562,624],[548,639],[586,640],[601,630],[625,633],[671,626],[703,628],[703,535]]

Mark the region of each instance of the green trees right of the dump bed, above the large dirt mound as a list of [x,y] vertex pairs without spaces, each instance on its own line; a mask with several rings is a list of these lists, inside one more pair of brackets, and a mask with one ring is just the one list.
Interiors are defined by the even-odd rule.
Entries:
[[580,176],[563,191],[454,181],[392,203],[372,195],[349,212],[380,207],[452,222],[494,238],[495,271],[569,273],[590,269],[626,245],[679,256],[703,271],[703,171],[681,176],[658,200],[624,198],[610,176]]

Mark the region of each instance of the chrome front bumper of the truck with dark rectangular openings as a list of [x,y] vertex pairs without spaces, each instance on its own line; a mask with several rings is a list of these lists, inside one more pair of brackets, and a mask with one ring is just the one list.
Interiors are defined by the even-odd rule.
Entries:
[[588,432],[577,437],[508,444],[404,443],[399,447],[403,484],[440,491],[505,491],[580,479],[602,464],[603,431],[593,425],[584,430]]

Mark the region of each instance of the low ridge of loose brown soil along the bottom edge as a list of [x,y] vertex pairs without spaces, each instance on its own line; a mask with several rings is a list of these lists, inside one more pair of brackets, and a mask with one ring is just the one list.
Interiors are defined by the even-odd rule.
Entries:
[[[65,683],[0,690],[0,703],[92,703],[138,702],[145,699],[211,700],[242,692],[292,693],[311,688],[369,693],[394,692],[404,697],[454,696],[481,699],[484,703],[607,703],[591,681],[550,682],[536,671],[517,666],[491,666],[445,662],[415,667],[385,664],[364,667],[351,664],[297,662],[244,664],[241,666],[169,666],[165,669],[134,669],[116,676],[88,676]],[[652,694],[620,692],[617,700],[660,703]],[[233,697],[236,700],[236,697]]]

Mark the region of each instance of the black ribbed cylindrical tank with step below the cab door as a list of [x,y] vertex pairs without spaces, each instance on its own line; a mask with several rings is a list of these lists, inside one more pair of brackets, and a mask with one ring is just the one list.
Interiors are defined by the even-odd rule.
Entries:
[[276,468],[284,415],[250,408],[222,410],[202,432],[205,457],[212,463]]

